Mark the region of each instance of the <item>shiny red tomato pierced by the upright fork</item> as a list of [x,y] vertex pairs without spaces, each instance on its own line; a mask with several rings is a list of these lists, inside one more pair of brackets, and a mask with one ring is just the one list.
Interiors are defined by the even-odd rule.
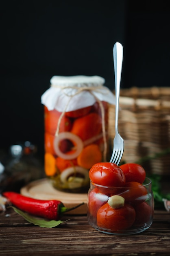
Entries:
[[102,186],[122,187],[125,184],[123,171],[113,163],[94,164],[89,171],[89,178]]

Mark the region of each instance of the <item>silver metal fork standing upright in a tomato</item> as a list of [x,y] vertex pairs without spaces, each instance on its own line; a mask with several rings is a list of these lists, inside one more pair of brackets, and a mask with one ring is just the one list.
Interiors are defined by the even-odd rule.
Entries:
[[122,159],[124,151],[124,140],[118,132],[118,112],[119,112],[119,96],[120,96],[120,79],[122,72],[123,61],[123,47],[120,43],[115,43],[113,46],[113,62],[115,71],[115,94],[116,94],[116,107],[115,107],[115,137],[113,140],[113,153],[110,163],[119,164]]

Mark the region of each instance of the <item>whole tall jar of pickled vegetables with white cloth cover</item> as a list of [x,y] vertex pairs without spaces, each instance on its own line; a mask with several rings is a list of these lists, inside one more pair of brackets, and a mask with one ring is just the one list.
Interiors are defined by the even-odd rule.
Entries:
[[42,95],[45,173],[61,191],[83,193],[89,169],[107,159],[108,103],[114,95],[100,76],[53,76]]

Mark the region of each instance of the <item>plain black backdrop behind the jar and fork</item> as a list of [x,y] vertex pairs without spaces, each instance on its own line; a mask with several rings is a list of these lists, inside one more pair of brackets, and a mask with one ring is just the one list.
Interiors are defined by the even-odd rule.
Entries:
[[99,75],[114,89],[113,45],[124,47],[122,88],[169,86],[168,0],[4,1],[0,148],[32,141],[44,153],[41,95],[54,75]]

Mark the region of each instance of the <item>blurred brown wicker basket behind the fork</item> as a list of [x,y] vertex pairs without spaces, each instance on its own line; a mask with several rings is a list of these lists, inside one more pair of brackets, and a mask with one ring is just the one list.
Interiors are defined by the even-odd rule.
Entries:
[[[114,93],[114,92],[113,92]],[[170,175],[170,88],[120,90],[122,161],[139,162],[147,173]],[[115,136],[115,106],[109,106],[109,141]]]

